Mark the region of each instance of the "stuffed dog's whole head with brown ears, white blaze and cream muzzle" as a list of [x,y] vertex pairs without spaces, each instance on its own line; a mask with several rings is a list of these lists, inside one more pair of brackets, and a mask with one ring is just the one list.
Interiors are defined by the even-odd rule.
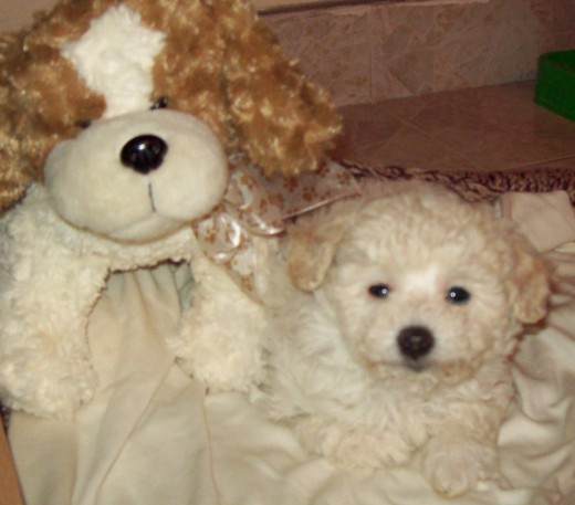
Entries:
[[230,156],[315,169],[339,124],[244,0],[62,0],[0,44],[0,210],[149,240],[213,208]]

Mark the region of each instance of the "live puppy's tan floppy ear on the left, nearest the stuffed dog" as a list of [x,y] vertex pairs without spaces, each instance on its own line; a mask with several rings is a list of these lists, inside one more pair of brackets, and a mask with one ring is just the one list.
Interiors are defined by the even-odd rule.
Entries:
[[344,212],[327,221],[310,220],[288,230],[288,269],[297,287],[313,291],[323,283],[349,224],[351,218]]

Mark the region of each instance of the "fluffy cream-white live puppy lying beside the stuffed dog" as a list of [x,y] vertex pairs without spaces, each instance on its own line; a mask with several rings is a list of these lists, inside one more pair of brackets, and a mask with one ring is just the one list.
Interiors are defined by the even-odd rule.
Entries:
[[510,356],[522,324],[545,315],[547,269],[493,206],[370,186],[291,230],[300,290],[276,308],[268,408],[345,469],[420,449],[432,487],[454,496],[496,469]]

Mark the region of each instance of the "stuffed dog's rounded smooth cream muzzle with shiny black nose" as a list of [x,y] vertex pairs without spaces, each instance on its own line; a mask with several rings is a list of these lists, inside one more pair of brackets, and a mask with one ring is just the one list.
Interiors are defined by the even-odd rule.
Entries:
[[129,242],[158,240],[208,215],[229,179],[227,154],[208,125],[167,109],[92,122],[50,152],[44,171],[64,221]]

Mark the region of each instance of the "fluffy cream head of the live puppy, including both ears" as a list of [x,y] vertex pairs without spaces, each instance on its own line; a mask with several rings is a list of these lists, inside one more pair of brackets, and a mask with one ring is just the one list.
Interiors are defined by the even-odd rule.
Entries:
[[428,185],[366,192],[296,227],[289,262],[374,375],[469,372],[545,315],[546,265],[491,206]]

